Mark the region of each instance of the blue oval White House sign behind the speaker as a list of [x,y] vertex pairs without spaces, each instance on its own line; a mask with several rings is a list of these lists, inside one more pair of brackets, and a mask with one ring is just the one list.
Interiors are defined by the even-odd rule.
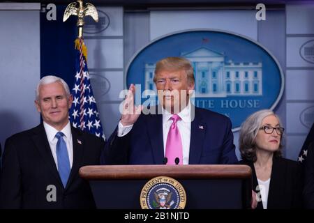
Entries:
[[253,112],[274,109],[283,94],[283,72],[267,49],[244,36],[212,30],[185,31],[154,40],[130,61],[126,84],[156,91],[156,61],[167,56],[191,61],[194,104],[229,116],[233,130],[239,130]]

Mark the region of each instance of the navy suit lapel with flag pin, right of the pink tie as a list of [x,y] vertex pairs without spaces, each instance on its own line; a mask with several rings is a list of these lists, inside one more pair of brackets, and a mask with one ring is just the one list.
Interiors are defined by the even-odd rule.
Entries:
[[[194,120],[190,126],[190,155],[188,164],[200,164],[200,156],[202,154],[203,142],[205,137],[206,125],[202,122],[202,114],[194,107]],[[193,112],[193,109],[191,109]]]

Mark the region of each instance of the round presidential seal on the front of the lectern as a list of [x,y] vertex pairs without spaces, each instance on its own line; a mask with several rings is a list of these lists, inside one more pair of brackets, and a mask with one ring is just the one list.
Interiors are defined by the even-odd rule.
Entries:
[[186,191],[174,178],[158,176],[144,185],[140,204],[142,209],[184,209]]

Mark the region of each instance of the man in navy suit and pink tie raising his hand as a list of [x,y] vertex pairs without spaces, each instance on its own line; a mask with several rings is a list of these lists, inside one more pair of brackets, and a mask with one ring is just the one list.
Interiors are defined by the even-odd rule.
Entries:
[[237,163],[230,119],[190,103],[195,87],[190,61],[181,57],[158,61],[154,82],[160,103],[144,109],[134,105],[135,86],[130,85],[103,163]]

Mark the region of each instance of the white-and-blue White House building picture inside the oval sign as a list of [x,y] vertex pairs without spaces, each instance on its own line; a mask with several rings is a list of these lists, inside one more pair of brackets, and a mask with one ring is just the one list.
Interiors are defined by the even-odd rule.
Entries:
[[[225,62],[225,54],[206,47],[181,53],[191,61],[195,75],[195,97],[225,98],[228,96],[262,95],[262,63]],[[156,91],[156,64],[145,64],[145,89]]]

